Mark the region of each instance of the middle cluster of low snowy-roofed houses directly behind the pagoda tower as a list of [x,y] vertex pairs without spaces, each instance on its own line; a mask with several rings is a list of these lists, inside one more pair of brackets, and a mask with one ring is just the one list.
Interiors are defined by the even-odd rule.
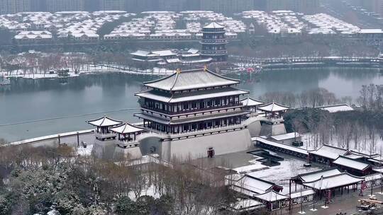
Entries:
[[[216,21],[223,25],[228,39],[236,39],[238,33],[246,32],[246,25],[242,21],[213,11],[147,11],[143,12],[143,15],[143,18],[133,18],[118,25],[110,34],[105,35],[104,39],[200,40],[201,23],[206,24],[204,21]],[[185,25],[177,28],[177,22],[183,22]]]

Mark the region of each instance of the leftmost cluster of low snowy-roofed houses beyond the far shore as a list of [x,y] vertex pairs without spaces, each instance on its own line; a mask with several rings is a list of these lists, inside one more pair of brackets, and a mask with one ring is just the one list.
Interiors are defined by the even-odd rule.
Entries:
[[99,40],[97,30],[104,23],[133,16],[126,11],[61,11],[24,12],[0,16],[0,27],[16,33],[18,42],[38,42],[52,39]]

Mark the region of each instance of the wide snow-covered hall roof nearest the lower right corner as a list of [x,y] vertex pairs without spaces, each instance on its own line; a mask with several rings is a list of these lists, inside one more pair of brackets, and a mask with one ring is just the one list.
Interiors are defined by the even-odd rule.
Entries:
[[313,180],[311,182],[303,182],[303,185],[316,190],[327,190],[334,187],[356,184],[358,182],[362,182],[363,180],[365,180],[365,178],[357,177],[355,175],[344,172],[338,175],[321,177],[320,179]]

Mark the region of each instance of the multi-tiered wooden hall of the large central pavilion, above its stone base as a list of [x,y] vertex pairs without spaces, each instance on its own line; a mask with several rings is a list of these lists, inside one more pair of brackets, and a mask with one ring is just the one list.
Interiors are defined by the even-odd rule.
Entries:
[[144,83],[148,91],[136,93],[144,127],[164,133],[182,133],[240,124],[247,112],[235,88],[238,80],[208,69],[177,71],[164,79]]

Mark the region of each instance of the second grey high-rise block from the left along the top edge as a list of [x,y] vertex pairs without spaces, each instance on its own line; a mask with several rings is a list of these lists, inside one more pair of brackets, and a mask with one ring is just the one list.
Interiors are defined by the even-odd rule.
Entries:
[[49,12],[57,11],[84,11],[84,0],[45,0]]

